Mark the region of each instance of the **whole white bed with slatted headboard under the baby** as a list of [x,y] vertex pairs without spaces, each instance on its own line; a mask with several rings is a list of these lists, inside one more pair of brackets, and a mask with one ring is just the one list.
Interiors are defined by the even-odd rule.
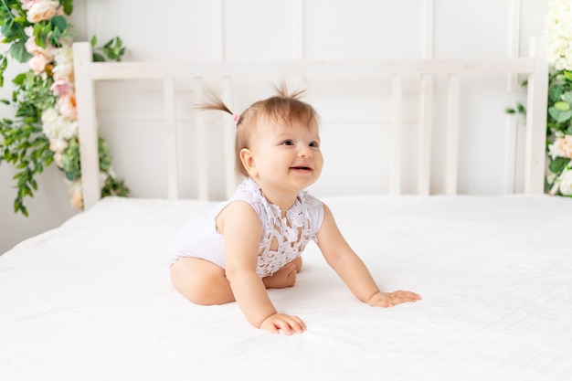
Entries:
[[[0,257],[0,379],[570,379],[572,202],[543,194],[547,68],[542,44],[531,51],[530,58],[485,60],[91,63],[89,45],[76,43],[86,210]],[[166,250],[177,228],[228,195],[236,177],[227,157],[207,160],[200,138],[208,120],[201,116],[190,150],[196,169],[177,166],[185,153],[175,128],[180,82],[171,75],[221,78],[228,96],[230,79],[279,74],[302,83],[322,80],[327,89],[326,78],[352,81],[356,72],[360,78],[389,73],[388,155],[394,160],[383,194],[322,198],[378,284],[417,291],[423,299],[369,307],[309,245],[296,285],[269,291],[278,310],[304,319],[305,333],[257,330],[235,303],[186,302],[170,283]],[[474,73],[528,79],[525,152],[516,165],[524,172],[522,188],[511,194],[463,194],[457,186],[456,94],[459,76]],[[418,79],[420,94],[414,192],[408,192],[408,162],[400,160],[399,148],[408,75]],[[438,75],[445,77],[443,102],[432,99]],[[149,77],[165,95],[167,196],[99,199],[95,142],[98,101],[105,99],[96,96],[97,84]],[[435,193],[427,164],[435,131],[428,110],[443,103],[449,144],[437,174],[442,192]],[[223,146],[232,140],[231,130],[224,131]],[[196,177],[192,196],[181,191],[182,172]]]

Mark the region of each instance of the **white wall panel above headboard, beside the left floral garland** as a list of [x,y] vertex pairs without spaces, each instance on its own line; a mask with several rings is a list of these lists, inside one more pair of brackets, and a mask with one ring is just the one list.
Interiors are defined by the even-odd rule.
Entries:
[[[217,1],[85,0],[100,42],[122,37],[132,60],[213,59]],[[76,0],[77,2],[77,0]],[[75,2],[74,2],[75,3]]]

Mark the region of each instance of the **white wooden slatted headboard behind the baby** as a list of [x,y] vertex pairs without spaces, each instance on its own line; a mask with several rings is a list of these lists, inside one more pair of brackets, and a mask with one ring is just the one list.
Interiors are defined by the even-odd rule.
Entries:
[[[446,153],[444,189],[446,194],[457,194],[459,171],[459,83],[461,76],[471,74],[499,73],[523,76],[526,87],[526,127],[524,147],[524,193],[540,194],[544,188],[546,99],[548,65],[542,39],[531,41],[529,58],[494,59],[399,59],[368,61],[283,61],[283,62],[91,62],[91,48],[87,42],[73,46],[76,96],[78,101],[79,144],[85,208],[93,206],[100,198],[99,160],[97,148],[98,116],[95,82],[113,79],[157,79],[163,82],[164,121],[167,135],[167,181],[169,198],[179,197],[179,174],[177,155],[177,112],[175,83],[177,80],[218,78],[221,79],[223,99],[229,99],[233,91],[232,79],[236,78],[295,78],[305,79],[389,79],[390,96],[387,110],[390,110],[390,163],[388,171],[389,193],[401,194],[403,171],[403,123],[406,114],[404,92],[406,79],[418,81],[418,179],[417,194],[429,195],[430,144],[433,124],[433,108],[444,103],[446,113]],[[434,99],[433,80],[436,76],[446,78],[446,99]],[[199,82],[196,82],[197,84]],[[506,105],[499,104],[499,110]],[[196,174],[198,198],[207,199],[207,146],[203,141],[206,122],[201,112],[196,112]],[[228,121],[230,123],[230,121]],[[230,195],[236,185],[234,174],[234,132],[224,132],[225,152],[221,159],[224,170],[226,194]]]

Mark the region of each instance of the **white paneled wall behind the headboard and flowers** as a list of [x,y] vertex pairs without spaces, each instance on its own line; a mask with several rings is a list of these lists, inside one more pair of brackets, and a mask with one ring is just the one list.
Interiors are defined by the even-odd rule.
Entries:
[[[120,36],[128,48],[126,59],[187,61],[526,56],[529,37],[543,33],[546,13],[546,2],[537,0],[172,0],[160,4],[149,0],[75,0],[74,5],[76,39],[88,39],[95,34],[100,41],[106,41]],[[277,80],[233,83],[234,94],[228,103],[242,111],[250,102],[270,95],[271,85]],[[437,78],[432,83],[438,100],[447,90],[444,80]],[[288,81],[298,84],[303,79]],[[503,112],[515,101],[523,101],[518,82],[504,75],[460,80],[459,154],[465,157],[459,171],[460,193],[496,194],[521,186],[514,158],[521,152],[523,133]],[[367,160],[383,160],[390,148],[387,142],[391,110],[376,107],[382,97],[387,97],[387,92],[372,90],[373,85],[376,84],[364,83],[354,86],[352,92],[325,96],[328,83],[305,83],[306,100],[322,115],[323,151],[327,160],[323,179],[315,185],[316,193],[333,194],[327,179],[340,172],[348,176],[348,185],[335,192],[362,189],[373,193],[387,188],[381,177],[360,169],[366,167]],[[380,89],[388,89],[389,82],[380,85]],[[143,97],[143,92],[160,85],[132,84],[125,90],[133,86],[135,93],[106,90],[105,84],[100,87],[99,96],[107,100],[101,106],[101,130],[111,145],[116,172],[127,180],[133,194],[164,196],[165,188],[160,181],[164,174],[160,170],[154,174],[154,168],[159,166],[157,161],[164,160],[161,154],[164,142],[158,130],[161,126],[154,118],[162,104],[154,102],[153,91]],[[407,101],[416,105],[419,101],[407,98],[408,86],[418,84],[405,84],[406,108]],[[183,83],[175,83],[175,87],[180,88],[175,101],[188,105],[177,117],[177,125],[180,155],[190,162],[194,150],[187,142],[192,140],[194,126],[188,113],[196,94]],[[477,111],[472,107],[474,103],[478,104]],[[135,109],[134,106],[142,104],[143,111]],[[471,113],[468,104],[472,104]],[[412,144],[418,139],[417,112],[416,109],[408,113],[406,109],[406,133],[411,133]],[[214,125],[208,132],[212,142],[208,154],[216,163],[221,149],[217,144],[219,129],[224,128],[224,123],[216,114],[208,114],[206,118]],[[446,136],[442,126],[448,116],[438,114],[432,118],[436,134],[430,165],[439,172],[444,165],[442,141]],[[357,125],[363,134],[353,133]],[[339,138],[341,132],[346,132],[344,139]],[[343,157],[339,153],[344,144],[362,145],[364,157]],[[507,147],[513,147],[512,151],[507,153]],[[417,158],[408,157],[407,149],[403,157],[408,162],[418,162]],[[131,170],[134,160],[143,163],[139,172]],[[130,172],[123,173],[127,167]],[[413,178],[417,171],[416,164],[412,164]],[[506,182],[506,174],[512,172],[514,181]],[[9,177],[8,168],[0,166],[0,252],[32,234],[21,224],[13,223],[20,217],[12,214]],[[444,191],[440,180],[436,178],[431,183],[431,192]],[[218,180],[212,181],[216,184]],[[52,179],[40,179],[40,195],[48,192],[51,183]],[[414,183],[412,179],[404,179],[406,190]],[[187,184],[182,196],[193,196],[195,192],[194,185]],[[57,207],[66,216],[74,213],[66,200],[58,203],[61,204],[30,210],[29,221],[50,228],[63,220],[61,214],[53,217],[49,212],[51,207]]]

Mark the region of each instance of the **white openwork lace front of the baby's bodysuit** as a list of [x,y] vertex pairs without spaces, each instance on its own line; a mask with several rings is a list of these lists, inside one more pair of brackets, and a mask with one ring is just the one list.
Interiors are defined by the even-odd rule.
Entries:
[[294,205],[286,211],[286,217],[282,218],[280,207],[270,204],[253,180],[247,179],[241,186],[254,196],[254,204],[261,206],[258,212],[262,223],[262,237],[256,272],[260,277],[266,277],[299,257],[310,239],[317,240],[315,233],[312,233],[317,227],[311,226],[312,217],[309,214],[306,192],[300,192]]

